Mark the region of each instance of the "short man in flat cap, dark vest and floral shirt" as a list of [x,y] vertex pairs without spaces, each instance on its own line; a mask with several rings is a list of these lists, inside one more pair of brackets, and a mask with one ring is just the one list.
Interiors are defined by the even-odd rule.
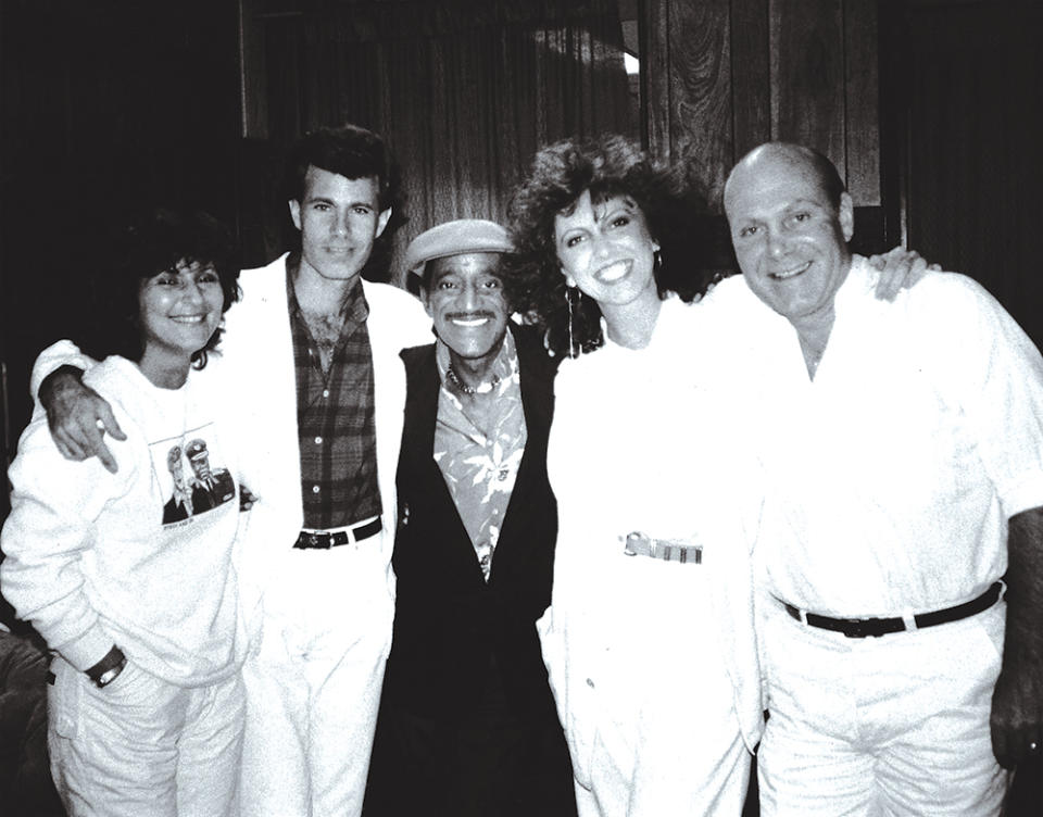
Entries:
[[540,653],[557,512],[546,478],[555,365],[511,319],[493,222],[417,236],[435,323],[406,349],[394,636],[365,815],[575,815]]

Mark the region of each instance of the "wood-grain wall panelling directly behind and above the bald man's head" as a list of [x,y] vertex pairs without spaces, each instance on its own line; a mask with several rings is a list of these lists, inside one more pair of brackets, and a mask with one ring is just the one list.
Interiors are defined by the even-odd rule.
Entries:
[[649,147],[719,193],[768,139],[821,150],[879,206],[880,0],[644,0]]

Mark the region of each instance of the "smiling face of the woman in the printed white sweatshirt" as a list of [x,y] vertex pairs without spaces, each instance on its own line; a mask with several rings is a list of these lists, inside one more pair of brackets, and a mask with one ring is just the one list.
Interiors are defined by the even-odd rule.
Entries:
[[[188,374],[192,355],[203,349],[221,324],[224,291],[210,265],[177,263],[138,289],[143,352],[138,366],[155,385],[166,376]],[[163,382],[160,382],[163,380]],[[175,384],[180,385],[180,384]]]

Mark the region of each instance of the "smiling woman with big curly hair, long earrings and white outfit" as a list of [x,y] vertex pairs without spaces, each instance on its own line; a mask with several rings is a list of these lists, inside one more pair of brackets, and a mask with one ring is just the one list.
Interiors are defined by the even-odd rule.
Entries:
[[743,494],[696,435],[726,429],[695,399],[708,328],[666,263],[682,193],[608,136],[541,150],[510,211],[514,302],[567,355],[538,628],[580,817],[738,815],[761,722]]

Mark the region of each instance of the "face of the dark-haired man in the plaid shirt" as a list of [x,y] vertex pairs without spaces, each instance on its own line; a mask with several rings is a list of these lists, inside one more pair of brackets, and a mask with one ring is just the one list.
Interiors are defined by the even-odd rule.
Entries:
[[350,179],[309,167],[303,201],[290,201],[301,231],[302,268],[331,280],[351,281],[362,272],[391,210],[380,212],[374,177]]

